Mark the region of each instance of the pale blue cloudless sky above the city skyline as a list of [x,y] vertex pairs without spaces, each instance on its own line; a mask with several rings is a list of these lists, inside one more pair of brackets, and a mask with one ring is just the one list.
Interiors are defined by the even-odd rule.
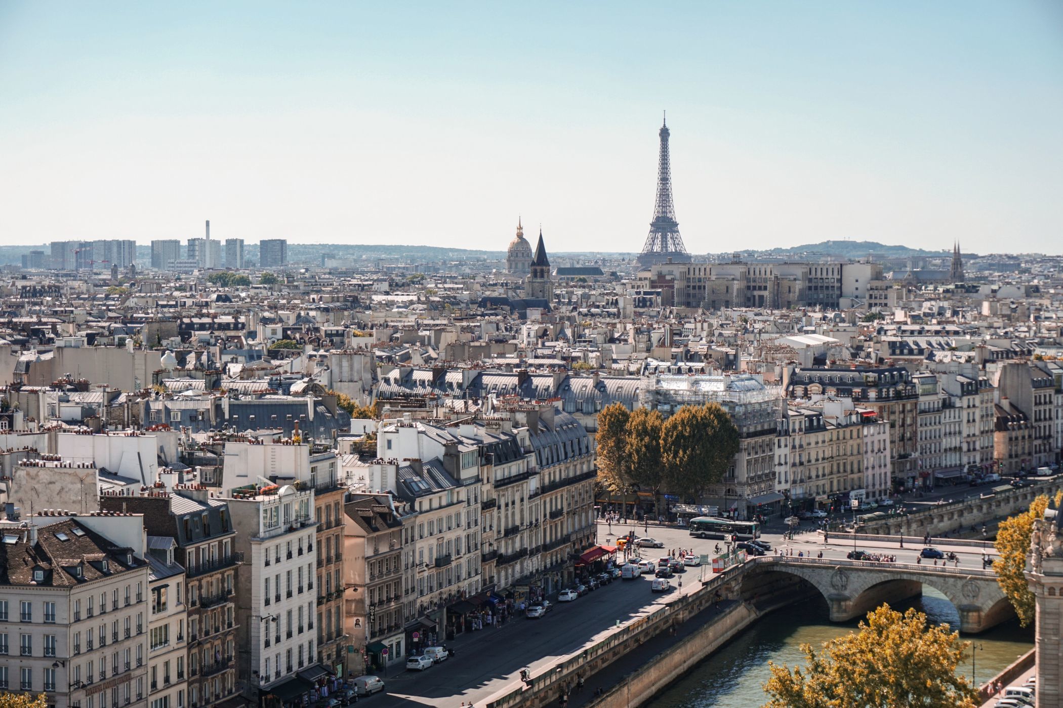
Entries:
[[0,243],[1063,252],[1063,2],[0,0]]

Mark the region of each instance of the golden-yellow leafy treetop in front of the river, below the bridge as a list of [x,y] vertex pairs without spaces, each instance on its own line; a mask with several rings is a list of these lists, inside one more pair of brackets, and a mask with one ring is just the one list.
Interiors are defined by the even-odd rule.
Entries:
[[956,674],[968,645],[914,608],[882,605],[821,652],[802,644],[804,670],[771,662],[764,708],[974,708],[978,690]]

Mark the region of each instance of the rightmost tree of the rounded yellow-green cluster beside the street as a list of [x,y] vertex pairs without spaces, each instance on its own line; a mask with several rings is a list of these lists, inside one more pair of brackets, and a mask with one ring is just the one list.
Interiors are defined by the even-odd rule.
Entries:
[[664,484],[696,499],[724,478],[738,451],[738,428],[719,403],[684,405],[661,429]]

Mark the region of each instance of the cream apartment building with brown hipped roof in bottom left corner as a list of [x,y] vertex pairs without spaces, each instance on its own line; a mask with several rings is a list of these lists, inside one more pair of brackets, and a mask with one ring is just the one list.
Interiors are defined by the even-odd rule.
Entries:
[[45,512],[0,533],[0,691],[45,693],[56,708],[146,708],[141,517]]

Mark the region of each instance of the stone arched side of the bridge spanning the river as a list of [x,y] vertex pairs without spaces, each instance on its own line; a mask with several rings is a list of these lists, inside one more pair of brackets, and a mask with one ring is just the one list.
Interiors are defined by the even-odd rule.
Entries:
[[792,556],[761,556],[745,566],[743,590],[758,583],[770,587],[765,583],[769,573],[795,575],[823,594],[834,622],[862,617],[883,602],[919,595],[924,585],[951,601],[960,614],[960,632],[965,634],[984,632],[1014,615],[992,570]]

